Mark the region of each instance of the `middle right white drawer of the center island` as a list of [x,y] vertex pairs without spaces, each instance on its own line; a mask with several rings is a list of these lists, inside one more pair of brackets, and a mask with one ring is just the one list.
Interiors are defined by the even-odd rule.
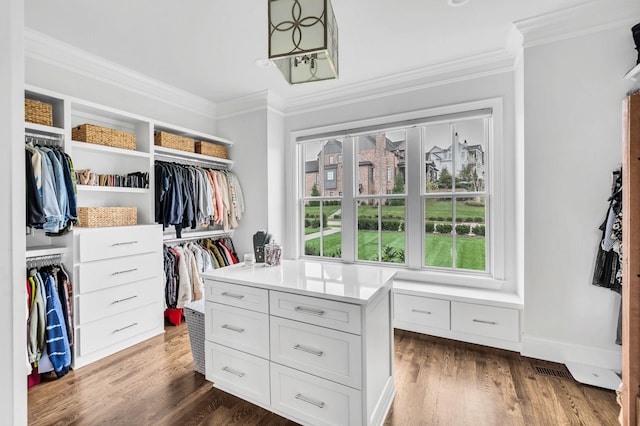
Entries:
[[271,317],[271,361],[362,389],[360,336]]

